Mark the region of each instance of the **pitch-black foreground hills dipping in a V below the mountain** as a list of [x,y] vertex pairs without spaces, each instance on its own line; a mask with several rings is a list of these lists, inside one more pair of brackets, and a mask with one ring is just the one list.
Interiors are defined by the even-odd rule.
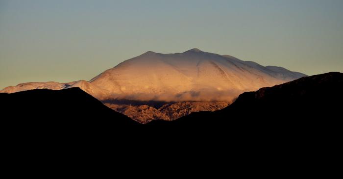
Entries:
[[34,161],[49,170],[45,163],[74,168],[71,159],[87,167],[119,157],[131,166],[130,158],[159,156],[158,163],[190,159],[204,166],[220,159],[223,171],[230,161],[255,169],[267,162],[269,172],[291,166],[317,174],[305,168],[336,170],[342,159],[342,101],[343,74],[334,72],[244,93],[220,111],[147,124],[78,88],[0,94],[2,154],[7,166],[28,172]]

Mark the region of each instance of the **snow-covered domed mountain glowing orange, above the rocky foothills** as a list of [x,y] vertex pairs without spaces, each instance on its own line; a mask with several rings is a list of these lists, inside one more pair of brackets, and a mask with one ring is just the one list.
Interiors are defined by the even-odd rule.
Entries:
[[176,54],[147,52],[123,61],[90,82],[112,93],[104,98],[232,101],[242,92],[304,76],[280,67],[264,67],[191,49]]

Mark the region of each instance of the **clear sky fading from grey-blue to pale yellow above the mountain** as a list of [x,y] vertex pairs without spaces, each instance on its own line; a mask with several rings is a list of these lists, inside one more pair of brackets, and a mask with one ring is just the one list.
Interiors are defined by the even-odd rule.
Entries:
[[343,72],[343,0],[0,0],[0,88],[90,80],[191,48],[307,75]]

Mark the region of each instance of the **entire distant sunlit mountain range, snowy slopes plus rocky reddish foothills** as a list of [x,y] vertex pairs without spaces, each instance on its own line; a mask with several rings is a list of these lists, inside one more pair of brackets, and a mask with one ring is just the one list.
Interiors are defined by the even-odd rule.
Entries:
[[[153,119],[173,120],[191,112],[220,110],[243,92],[305,76],[282,67],[265,67],[195,48],[175,54],[147,52],[89,81],[29,82],[6,87],[0,92],[79,87],[110,108],[146,123]],[[141,102],[131,105],[133,101]],[[162,105],[151,104],[151,101],[168,107],[162,110]],[[184,102],[188,102],[187,105],[182,104]]]

